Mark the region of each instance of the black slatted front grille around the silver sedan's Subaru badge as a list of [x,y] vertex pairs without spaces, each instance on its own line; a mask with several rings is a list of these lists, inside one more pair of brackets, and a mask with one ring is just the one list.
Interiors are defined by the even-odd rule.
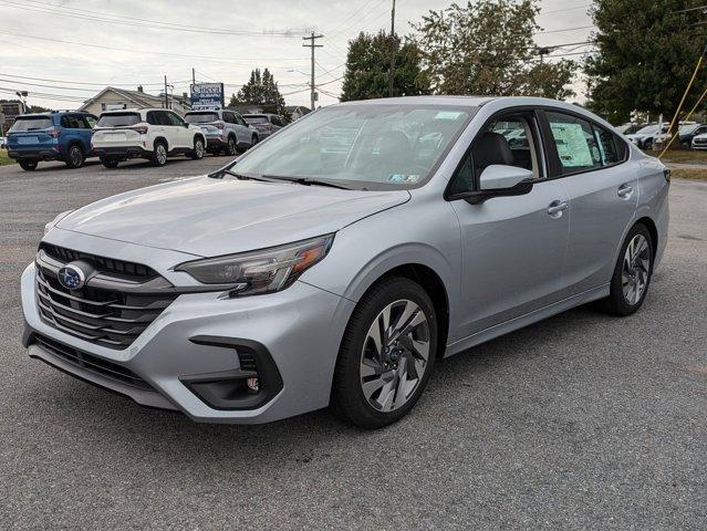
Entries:
[[[67,261],[49,254],[44,248],[37,256],[37,294],[42,320],[82,340],[126,348],[177,298],[175,288],[145,266],[132,264],[138,266],[132,277],[127,274],[132,268],[122,266],[119,277],[108,275],[104,274],[104,264],[128,262],[94,260],[91,254],[55,246],[54,249],[61,250],[56,254],[65,258],[80,256],[82,262],[96,270],[82,289],[69,290],[58,278]],[[143,274],[145,271],[147,274]]]

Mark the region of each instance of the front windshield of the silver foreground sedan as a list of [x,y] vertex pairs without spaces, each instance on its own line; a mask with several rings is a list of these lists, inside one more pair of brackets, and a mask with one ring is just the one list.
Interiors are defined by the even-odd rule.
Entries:
[[441,105],[329,107],[281,129],[230,170],[352,188],[409,188],[429,177],[475,112]]

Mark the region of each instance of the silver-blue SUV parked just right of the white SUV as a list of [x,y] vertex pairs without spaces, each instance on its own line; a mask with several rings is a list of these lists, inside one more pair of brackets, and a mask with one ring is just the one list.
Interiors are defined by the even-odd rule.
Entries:
[[239,149],[245,152],[258,144],[258,132],[235,111],[190,111],[184,119],[201,127],[206,135],[206,150],[214,155],[236,155]]

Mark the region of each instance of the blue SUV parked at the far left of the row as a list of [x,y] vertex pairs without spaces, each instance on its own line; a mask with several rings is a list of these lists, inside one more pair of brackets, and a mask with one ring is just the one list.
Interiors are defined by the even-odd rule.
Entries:
[[40,160],[63,160],[70,168],[79,168],[91,156],[97,119],[76,111],[22,114],[8,132],[8,156],[28,171]]

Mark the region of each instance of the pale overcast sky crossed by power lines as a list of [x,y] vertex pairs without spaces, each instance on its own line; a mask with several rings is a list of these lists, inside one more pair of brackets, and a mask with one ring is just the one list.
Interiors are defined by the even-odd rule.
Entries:
[[[396,31],[410,32],[428,10],[450,3],[397,0]],[[573,44],[592,31],[588,0],[542,0],[540,7],[538,44],[569,44],[555,54],[589,50]],[[165,74],[183,93],[193,67],[197,82],[223,82],[230,94],[251,69],[267,66],[289,105],[309,106],[303,32],[324,34],[316,84],[321,104],[335,103],[347,41],[389,29],[391,0],[0,0],[0,98],[24,90],[29,104],[73,108],[108,84],[142,84],[157,94]]]

